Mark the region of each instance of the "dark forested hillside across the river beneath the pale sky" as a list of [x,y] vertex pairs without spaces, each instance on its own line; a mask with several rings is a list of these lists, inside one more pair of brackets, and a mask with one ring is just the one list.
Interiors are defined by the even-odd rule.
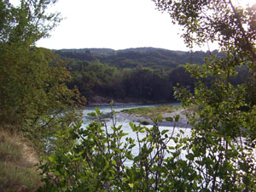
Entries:
[[[183,52],[162,48],[82,48],[55,50],[60,59],[67,61],[67,70],[73,74],[70,88],[77,86],[88,103],[96,96],[122,102],[174,101],[173,87],[177,83],[191,91],[195,79],[185,71],[186,64],[200,64],[213,52]],[[246,67],[232,78],[235,84],[244,81]],[[210,81],[210,80],[208,80]]]

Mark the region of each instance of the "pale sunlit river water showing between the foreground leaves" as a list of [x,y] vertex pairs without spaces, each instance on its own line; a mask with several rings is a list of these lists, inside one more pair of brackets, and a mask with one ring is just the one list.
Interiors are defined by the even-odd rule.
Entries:
[[[148,107],[148,106],[157,106],[158,104],[154,104],[154,105],[114,105],[113,106],[113,110],[116,111],[116,126],[118,127],[119,125],[122,126],[122,130],[124,133],[128,133],[127,136],[125,136],[123,138],[123,142],[125,142],[125,138],[126,137],[130,137],[130,138],[135,138],[137,140],[137,133],[132,132],[131,127],[130,127],[130,120],[126,119],[124,116],[120,115],[120,111],[121,110],[125,110],[125,109],[132,109],[132,108],[137,108],[137,107]],[[179,105],[178,103],[174,103],[172,104],[173,106],[177,106]],[[108,125],[108,132],[111,133],[111,126],[113,125],[113,121],[110,118],[110,114],[111,114],[111,108],[110,106],[96,106],[101,112],[102,112],[102,120],[105,121]],[[83,111],[83,120],[84,120],[84,124],[83,127],[86,128],[86,126],[88,126],[90,124],[91,121],[95,121],[95,118],[92,116],[88,116],[88,113],[91,112],[95,112],[96,107],[87,107],[84,111]],[[138,122],[134,122],[135,124],[138,124]],[[148,125],[146,127],[152,127],[152,125]],[[160,131],[162,130],[169,130],[168,134],[171,135],[173,132],[173,127],[160,127]],[[183,127],[176,127],[174,129],[174,133],[173,133],[173,137],[175,137],[178,133],[180,133],[180,130],[183,130],[184,134],[183,136],[189,136],[191,133],[191,129],[190,128],[183,128]],[[143,138],[145,136],[145,134],[141,133],[139,135],[139,138]],[[168,144],[168,146],[175,146],[175,143],[171,140]],[[137,155],[139,153],[139,147],[138,144],[132,149],[132,154],[133,155]],[[186,152],[183,151],[183,154],[181,154],[181,158],[185,158],[185,154]],[[166,156],[168,156],[166,154]],[[127,166],[131,166],[131,162],[127,161],[125,163]]]

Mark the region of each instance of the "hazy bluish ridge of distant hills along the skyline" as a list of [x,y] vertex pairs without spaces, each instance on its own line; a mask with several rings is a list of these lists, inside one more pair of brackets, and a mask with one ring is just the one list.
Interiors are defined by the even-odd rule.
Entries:
[[[207,52],[183,52],[163,48],[127,48],[114,50],[111,48],[79,48],[54,50],[61,59],[79,61],[99,60],[101,63],[115,66],[119,69],[135,68],[137,66],[157,68],[176,68],[187,63],[202,64],[209,55]],[[218,53],[218,52],[217,52]]]

